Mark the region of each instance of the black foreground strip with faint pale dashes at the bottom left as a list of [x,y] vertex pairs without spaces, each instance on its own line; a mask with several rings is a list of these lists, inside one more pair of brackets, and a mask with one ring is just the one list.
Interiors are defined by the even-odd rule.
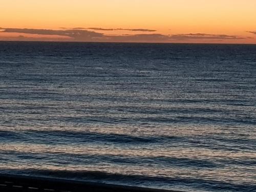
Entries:
[[124,191],[124,192],[181,192],[174,190],[131,187],[113,184],[74,181],[66,179],[52,179],[0,174],[0,191],[45,191],[45,192],[80,192],[80,191]]

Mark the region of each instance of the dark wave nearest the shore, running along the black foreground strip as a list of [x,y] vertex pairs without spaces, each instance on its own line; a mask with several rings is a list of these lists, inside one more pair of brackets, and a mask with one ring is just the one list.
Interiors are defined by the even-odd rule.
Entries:
[[[112,183],[145,186],[151,183],[151,186],[156,188],[170,189],[175,186],[183,186],[184,188],[194,188],[203,190],[218,190],[218,191],[255,191],[255,183],[232,183],[220,180],[197,179],[191,177],[164,177],[164,176],[143,176],[143,175],[123,175],[112,174],[94,170],[47,170],[47,169],[2,169],[0,173],[24,176],[36,176],[47,178],[71,179],[77,181],[94,181],[98,183]],[[161,186],[158,184],[161,183]]]

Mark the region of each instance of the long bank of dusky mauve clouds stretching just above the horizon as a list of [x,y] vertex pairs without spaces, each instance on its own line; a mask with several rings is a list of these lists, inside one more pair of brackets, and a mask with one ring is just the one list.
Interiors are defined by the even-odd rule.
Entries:
[[[91,28],[91,29],[102,29],[102,28]],[[130,31],[148,31],[148,29],[104,29],[104,30],[130,30]],[[96,41],[96,42],[179,42],[190,40],[199,41],[225,41],[225,40],[239,40],[245,39],[243,37],[235,35],[225,34],[205,34],[205,33],[184,33],[184,34],[173,34],[165,35],[160,33],[142,33],[142,34],[123,34],[123,35],[107,35],[96,31],[89,31],[83,28],[72,28],[72,29],[18,29],[18,28],[0,28],[0,33],[19,33],[19,35],[30,34],[26,39],[32,39],[33,35],[41,35],[37,37],[40,39],[51,39],[56,40],[57,38],[61,41]],[[256,34],[256,32],[255,32]],[[52,36],[51,36],[52,35]],[[27,35],[26,35],[27,36]],[[56,38],[54,38],[56,37]],[[24,37],[19,36],[19,39]]]

